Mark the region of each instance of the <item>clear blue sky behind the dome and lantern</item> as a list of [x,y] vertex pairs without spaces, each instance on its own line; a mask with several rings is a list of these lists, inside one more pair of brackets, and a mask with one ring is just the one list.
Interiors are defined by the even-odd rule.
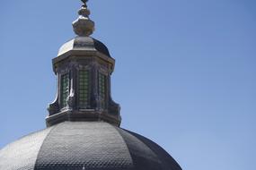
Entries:
[[[45,128],[79,0],[0,1],[0,148]],[[256,1],[91,0],[122,127],[184,170],[256,169]]]

